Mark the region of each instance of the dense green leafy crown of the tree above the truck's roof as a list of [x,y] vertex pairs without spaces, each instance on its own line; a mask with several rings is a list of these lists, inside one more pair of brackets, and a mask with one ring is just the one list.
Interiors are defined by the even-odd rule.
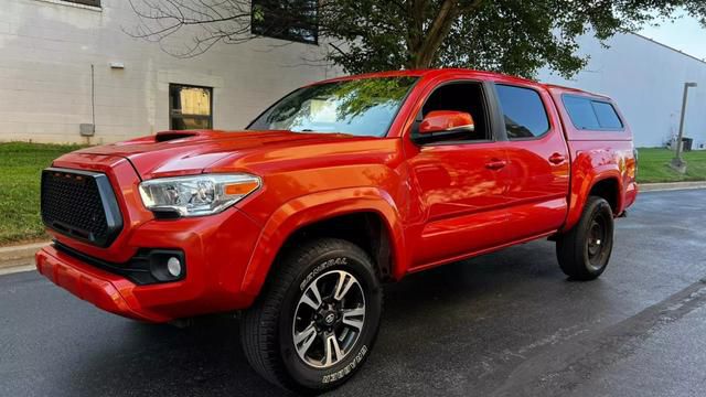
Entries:
[[[418,67],[470,67],[532,77],[548,66],[570,77],[587,58],[577,37],[616,32],[672,14],[706,17],[703,0],[400,0],[330,1],[329,60],[349,73]],[[450,11],[445,11],[449,8]],[[446,12],[446,13],[445,13]],[[439,19],[440,15],[445,18]],[[329,24],[331,23],[331,24]],[[435,30],[435,26],[439,26]],[[345,50],[343,50],[345,49]]]

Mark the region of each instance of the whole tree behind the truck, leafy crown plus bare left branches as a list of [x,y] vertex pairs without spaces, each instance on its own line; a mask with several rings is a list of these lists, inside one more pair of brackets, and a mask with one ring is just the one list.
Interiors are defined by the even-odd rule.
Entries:
[[582,34],[603,42],[678,9],[706,26],[704,0],[129,1],[140,19],[133,36],[163,43],[186,31],[184,50],[168,50],[176,56],[256,40],[254,31],[311,34],[318,25],[323,61],[347,73],[443,66],[531,77],[548,66],[570,77],[588,61],[577,54]]

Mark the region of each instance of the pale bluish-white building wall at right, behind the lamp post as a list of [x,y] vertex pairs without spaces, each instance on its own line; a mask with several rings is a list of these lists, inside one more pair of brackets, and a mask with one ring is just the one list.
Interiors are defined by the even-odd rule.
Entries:
[[618,34],[606,49],[592,36],[580,41],[588,66],[571,81],[539,73],[539,79],[613,98],[639,147],[662,147],[678,133],[684,82],[689,88],[684,136],[706,149],[706,63],[635,34]]

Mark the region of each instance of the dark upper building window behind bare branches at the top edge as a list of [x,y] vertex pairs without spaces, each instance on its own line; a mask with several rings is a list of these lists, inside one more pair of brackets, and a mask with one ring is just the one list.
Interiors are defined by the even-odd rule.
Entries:
[[268,37],[317,44],[317,0],[253,0],[250,30]]

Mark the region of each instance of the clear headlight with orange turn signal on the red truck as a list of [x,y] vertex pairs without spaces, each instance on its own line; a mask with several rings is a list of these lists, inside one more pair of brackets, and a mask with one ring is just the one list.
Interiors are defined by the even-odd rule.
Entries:
[[181,216],[222,212],[260,187],[260,179],[246,174],[203,174],[161,178],[140,183],[145,206]]

